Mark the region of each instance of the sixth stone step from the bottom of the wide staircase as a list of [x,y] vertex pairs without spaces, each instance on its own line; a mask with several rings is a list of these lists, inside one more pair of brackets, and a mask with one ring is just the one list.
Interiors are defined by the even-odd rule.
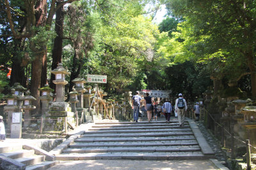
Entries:
[[144,132],[189,132],[191,129],[186,128],[186,129],[132,129],[132,130],[116,130],[116,129],[109,129],[108,131],[89,131],[86,132],[85,134],[108,134],[108,133],[144,133]]

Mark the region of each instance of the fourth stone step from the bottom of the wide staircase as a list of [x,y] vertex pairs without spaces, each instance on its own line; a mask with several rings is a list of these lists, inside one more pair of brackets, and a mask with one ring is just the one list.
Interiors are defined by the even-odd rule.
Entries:
[[133,138],[77,138],[76,142],[92,143],[92,142],[118,142],[118,141],[182,141],[192,140],[196,142],[194,136],[168,136],[168,137],[133,137]]

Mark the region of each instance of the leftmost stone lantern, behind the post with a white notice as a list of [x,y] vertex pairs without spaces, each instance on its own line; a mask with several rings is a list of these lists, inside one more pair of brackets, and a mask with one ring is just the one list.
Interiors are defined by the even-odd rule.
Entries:
[[16,94],[15,94],[15,89],[11,89],[11,95],[4,97],[7,101],[7,105],[4,106],[4,110],[8,111],[7,124],[9,128],[11,128],[11,124],[12,124],[12,113],[20,112],[20,107],[18,106],[19,96],[17,96]]

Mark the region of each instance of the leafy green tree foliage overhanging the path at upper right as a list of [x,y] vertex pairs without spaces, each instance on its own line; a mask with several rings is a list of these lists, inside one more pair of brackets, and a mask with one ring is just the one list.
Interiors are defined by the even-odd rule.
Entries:
[[[256,21],[253,19],[256,16],[256,3],[227,0],[167,0],[165,3],[173,15],[186,19],[183,26],[187,27],[192,43],[184,46],[187,52],[200,53],[194,55],[197,60],[218,60],[215,63],[219,65],[221,62],[222,66],[229,68],[232,63],[236,63],[236,66],[232,67],[236,71],[241,68],[246,71],[246,64],[251,74],[252,96],[256,97]],[[230,76],[233,76],[231,79],[237,80],[243,74],[237,75],[236,78],[234,75]]]

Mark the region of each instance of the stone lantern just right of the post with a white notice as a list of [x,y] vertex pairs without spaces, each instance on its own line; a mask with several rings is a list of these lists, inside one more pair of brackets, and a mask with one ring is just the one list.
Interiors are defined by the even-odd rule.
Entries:
[[31,110],[35,110],[36,106],[32,105],[32,101],[36,101],[35,97],[30,96],[29,90],[26,92],[26,96],[22,97],[23,101],[22,110],[24,110],[24,127],[31,124]]

